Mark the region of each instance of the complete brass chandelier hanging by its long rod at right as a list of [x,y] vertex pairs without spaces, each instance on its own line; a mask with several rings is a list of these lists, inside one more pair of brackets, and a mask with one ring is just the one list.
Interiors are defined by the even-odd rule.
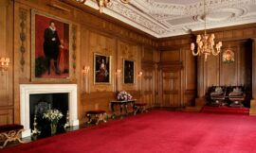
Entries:
[[[212,54],[213,56],[219,55],[221,52],[222,42],[218,42],[215,45],[214,39],[215,36],[213,33],[207,34],[206,32],[206,0],[204,0],[204,20],[205,20],[205,32],[203,35],[197,35],[196,37],[196,44],[197,48],[195,51],[195,44],[192,42],[191,50],[193,56],[205,56],[205,61],[207,61],[208,56]],[[215,48],[214,48],[215,45]]]

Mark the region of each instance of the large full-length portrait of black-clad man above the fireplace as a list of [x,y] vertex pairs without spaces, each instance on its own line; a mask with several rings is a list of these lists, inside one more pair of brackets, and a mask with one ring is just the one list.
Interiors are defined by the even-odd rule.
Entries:
[[31,78],[37,81],[70,78],[70,24],[32,10]]

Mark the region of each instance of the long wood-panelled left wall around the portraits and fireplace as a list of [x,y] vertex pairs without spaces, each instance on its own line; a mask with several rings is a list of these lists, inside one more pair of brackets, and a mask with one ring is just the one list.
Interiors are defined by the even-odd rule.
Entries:
[[[31,10],[56,16],[77,26],[74,76],[63,82],[31,80]],[[9,57],[9,71],[0,76],[0,125],[20,122],[20,84],[75,83],[78,85],[78,111],[81,124],[86,110],[109,111],[109,102],[121,90],[138,101],[155,106],[157,78],[155,38],[107,15],[70,0],[1,0],[0,57]],[[111,83],[95,84],[94,53],[112,56]],[[135,83],[123,83],[123,59],[135,61]],[[82,67],[89,66],[88,75]],[[121,75],[116,75],[116,70]],[[143,76],[139,77],[138,72]],[[143,84],[143,85],[142,85]]]

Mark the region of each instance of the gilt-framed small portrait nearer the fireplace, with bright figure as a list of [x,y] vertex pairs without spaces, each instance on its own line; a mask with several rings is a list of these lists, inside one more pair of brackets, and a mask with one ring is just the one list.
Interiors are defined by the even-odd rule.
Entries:
[[111,56],[94,53],[94,83],[111,83]]

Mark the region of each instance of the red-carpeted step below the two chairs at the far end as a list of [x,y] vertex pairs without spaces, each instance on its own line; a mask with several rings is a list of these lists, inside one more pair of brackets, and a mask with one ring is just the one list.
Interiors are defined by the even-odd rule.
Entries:
[[205,106],[201,110],[202,112],[214,112],[214,113],[236,113],[236,114],[244,114],[248,115],[249,114],[249,109],[248,108],[230,108],[230,107],[210,107],[210,106]]

